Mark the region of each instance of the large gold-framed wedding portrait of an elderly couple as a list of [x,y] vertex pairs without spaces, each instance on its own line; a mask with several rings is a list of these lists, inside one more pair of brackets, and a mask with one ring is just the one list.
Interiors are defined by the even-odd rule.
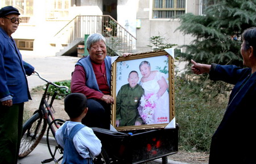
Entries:
[[117,131],[166,127],[175,117],[174,58],[165,50],[117,58],[111,92]]

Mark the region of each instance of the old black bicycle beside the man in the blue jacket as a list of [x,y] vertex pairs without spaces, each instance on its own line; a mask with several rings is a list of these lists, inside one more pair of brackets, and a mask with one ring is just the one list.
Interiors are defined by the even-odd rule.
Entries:
[[[55,161],[55,163],[59,162],[63,156],[61,155],[56,159],[56,153],[59,152],[63,154],[63,148],[56,143],[55,140],[55,148],[52,148],[52,144],[50,143],[51,136],[55,137],[55,132],[57,128],[61,126],[65,122],[63,119],[55,119],[53,113],[55,110],[53,109],[53,101],[57,96],[57,92],[54,92],[51,101],[48,103],[50,95],[48,93],[48,89],[50,85],[53,85],[57,88],[64,88],[66,92],[68,92],[69,88],[67,86],[60,86],[57,84],[52,83],[44,79],[38,72],[35,71],[35,74],[42,80],[46,81],[46,88],[43,93],[39,109],[34,112],[34,114],[23,124],[23,133],[22,133],[22,140],[20,142],[20,150],[19,150],[19,158],[26,157],[28,154],[35,149],[35,147],[40,143],[44,133],[46,132],[47,124],[48,130],[46,135],[47,146],[49,149],[49,153],[51,154],[52,158],[46,159],[42,161],[42,163],[48,163],[51,161]],[[54,126],[53,126],[54,125]],[[52,133],[52,135],[50,134]],[[54,140],[53,140],[54,141]]]

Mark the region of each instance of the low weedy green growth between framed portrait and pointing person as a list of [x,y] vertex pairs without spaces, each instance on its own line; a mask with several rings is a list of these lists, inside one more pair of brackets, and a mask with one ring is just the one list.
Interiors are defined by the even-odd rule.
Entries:
[[179,148],[183,150],[209,152],[211,137],[228,102],[228,97],[205,94],[202,86],[184,76],[175,79],[176,122],[180,126]]

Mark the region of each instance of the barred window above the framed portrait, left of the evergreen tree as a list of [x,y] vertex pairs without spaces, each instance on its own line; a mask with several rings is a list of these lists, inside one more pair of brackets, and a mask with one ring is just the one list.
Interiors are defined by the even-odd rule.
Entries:
[[185,14],[185,0],[153,0],[153,18],[176,18]]

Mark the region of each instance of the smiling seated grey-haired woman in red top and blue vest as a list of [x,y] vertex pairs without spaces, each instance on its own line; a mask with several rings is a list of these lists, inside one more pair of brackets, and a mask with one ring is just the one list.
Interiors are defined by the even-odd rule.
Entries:
[[[71,92],[85,94],[88,113],[82,123],[88,127],[110,128],[111,57],[107,56],[106,40],[102,34],[90,34],[86,41],[88,57],[80,59],[71,79]],[[124,54],[123,57],[129,54]]]

